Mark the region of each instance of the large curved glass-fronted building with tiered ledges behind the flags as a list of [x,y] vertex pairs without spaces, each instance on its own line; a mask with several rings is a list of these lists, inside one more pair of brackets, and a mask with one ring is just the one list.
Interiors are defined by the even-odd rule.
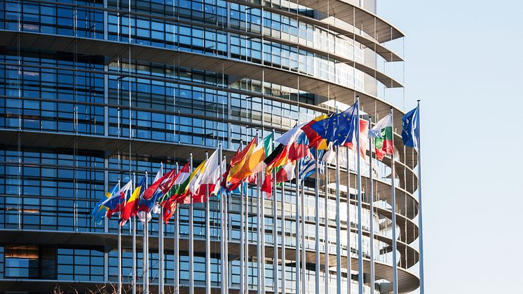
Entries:
[[[281,134],[298,121],[350,105],[359,95],[363,112],[383,117],[393,107],[395,126],[403,113],[404,62],[400,30],[376,14],[374,0],[327,1],[0,1],[0,292],[49,293],[106,290],[118,276],[117,224],[101,225],[90,211],[118,179],[127,182],[158,168],[203,161],[222,142],[230,158],[259,131]],[[416,154],[398,147],[396,226],[398,288],[419,287]],[[369,227],[374,223],[375,293],[393,281],[390,158],[374,161],[374,213],[364,194],[362,235],[365,293],[369,293]],[[328,276],[332,293],[341,275],[344,293],[358,289],[358,222],[355,165],[341,169],[341,220],[336,185],[319,187],[320,248],[315,248],[315,181],[306,181],[304,253],[306,290],[315,292],[315,252],[320,253],[320,289]],[[369,187],[368,166],[362,189]],[[323,183],[323,179],[322,179]],[[296,289],[295,185],[264,201],[266,291],[273,292],[273,204],[278,208],[278,268],[285,252],[285,290]],[[256,189],[247,197],[250,290],[256,290]],[[284,199],[285,205],[281,200]],[[274,202],[276,201],[276,202]],[[327,203],[326,203],[327,202]],[[229,287],[238,292],[240,197],[229,197]],[[218,203],[210,201],[210,284],[220,289]],[[285,208],[285,221],[281,218]],[[325,208],[328,243],[325,246]],[[351,265],[347,274],[347,222],[351,217]],[[189,286],[189,214],[165,227],[165,289]],[[285,250],[282,250],[282,224]],[[173,234],[179,225],[179,254]],[[337,228],[341,265],[337,266]],[[158,288],[158,219],[149,224],[151,290]],[[142,224],[137,226],[137,284],[142,290]],[[194,286],[205,289],[205,205],[193,214]],[[124,288],[130,288],[132,234],[123,227]],[[325,250],[329,270],[325,272]],[[278,271],[281,290],[281,271]]]

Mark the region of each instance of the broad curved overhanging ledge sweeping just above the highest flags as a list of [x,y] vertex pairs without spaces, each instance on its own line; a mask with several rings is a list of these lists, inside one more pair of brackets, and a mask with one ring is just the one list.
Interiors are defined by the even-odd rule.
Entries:
[[[299,88],[301,91],[320,95],[324,99],[330,98],[346,104],[351,104],[355,95],[360,95],[360,109],[362,109],[363,112],[365,112],[365,109],[371,112],[370,110],[372,109],[374,112],[371,113],[379,114],[381,117],[388,114],[391,107],[402,113],[397,107],[368,93],[355,90],[348,86],[341,86],[334,81],[326,81],[287,69],[278,69],[241,60],[231,60],[199,53],[173,51],[151,46],[40,33],[17,33],[5,30],[0,30],[0,32],[4,36],[4,38],[0,40],[0,46],[16,47],[18,44],[18,35],[20,35],[20,46],[26,48],[44,51],[65,51],[69,53],[74,52],[76,48],[78,53],[81,54],[104,56],[107,58],[107,63],[114,60],[117,56],[128,56],[130,51],[130,58],[132,60],[196,68],[228,74],[229,76],[238,76],[238,79],[247,78],[276,83],[290,88]],[[318,100],[317,104],[322,102],[325,102],[325,100]],[[395,117],[395,125],[401,126],[401,118],[398,116]]]

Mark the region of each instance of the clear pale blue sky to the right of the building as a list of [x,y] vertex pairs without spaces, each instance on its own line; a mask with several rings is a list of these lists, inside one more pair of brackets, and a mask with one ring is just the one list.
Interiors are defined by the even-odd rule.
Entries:
[[426,293],[523,293],[523,1],[379,0],[421,98]]

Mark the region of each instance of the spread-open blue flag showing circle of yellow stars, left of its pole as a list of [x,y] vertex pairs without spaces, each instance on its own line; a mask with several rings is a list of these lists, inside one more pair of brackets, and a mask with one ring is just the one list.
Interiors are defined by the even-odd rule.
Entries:
[[311,125],[320,137],[332,142],[334,146],[352,142],[357,122],[358,102],[344,112],[332,115],[329,119],[316,121]]

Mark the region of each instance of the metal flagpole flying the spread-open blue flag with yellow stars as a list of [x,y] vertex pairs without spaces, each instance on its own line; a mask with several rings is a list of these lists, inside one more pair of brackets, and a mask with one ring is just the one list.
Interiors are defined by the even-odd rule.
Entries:
[[356,96],[356,103],[358,103],[358,107],[356,108],[356,126],[355,126],[355,133],[356,133],[356,154],[358,156],[358,160],[356,161],[356,164],[358,164],[357,171],[358,171],[358,178],[356,181],[356,185],[358,186],[358,289],[359,293],[363,293],[363,234],[362,234],[362,218],[361,218],[361,156],[360,156],[360,96]]

